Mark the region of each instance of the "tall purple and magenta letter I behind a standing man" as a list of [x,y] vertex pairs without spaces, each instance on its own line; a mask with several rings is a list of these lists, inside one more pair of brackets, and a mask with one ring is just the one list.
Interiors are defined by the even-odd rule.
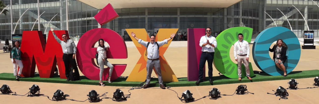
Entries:
[[[199,61],[202,54],[202,47],[199,46],[199,40],[205,35],[204,28],[188,28],[187,29],[187,79],[188,81],[197,81],[199,76]],[[204,80],[205,80],[204,67]]]

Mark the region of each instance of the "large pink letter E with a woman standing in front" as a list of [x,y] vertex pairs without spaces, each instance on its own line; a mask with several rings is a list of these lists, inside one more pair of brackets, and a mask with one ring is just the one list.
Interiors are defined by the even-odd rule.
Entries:
[[[103,39],[110,45],[110,48],[107,51],[108,59],[125,59],[128,57],[126,44],[122,36],[115,31],[107,28],[96,28],[86,32],[78,42],[76,58],[80,71],[85,75],[85,77],[92,80],[100,80],[99,67],[94,63],[94,60],[96,60],[95,54],[97,48],[93,48],[99,39]],[[126,65],[127,64],[113,64],[114,69],[111,80],[119,78],[124,72]],[[104,66],[102,77],[103,80],[108,78],[109,72],[109,68],[105,67],[106,66]]]

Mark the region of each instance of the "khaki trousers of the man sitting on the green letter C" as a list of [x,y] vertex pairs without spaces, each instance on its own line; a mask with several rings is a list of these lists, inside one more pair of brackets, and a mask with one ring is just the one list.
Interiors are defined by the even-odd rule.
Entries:
[[246,55],[237,55],[237,59],[238,59],[238,78],[241,78],[241,62],[244,63],[244,66],[246,68],[246,76],[250,77],[250,70],[249,70],[249,61],[246,60]]

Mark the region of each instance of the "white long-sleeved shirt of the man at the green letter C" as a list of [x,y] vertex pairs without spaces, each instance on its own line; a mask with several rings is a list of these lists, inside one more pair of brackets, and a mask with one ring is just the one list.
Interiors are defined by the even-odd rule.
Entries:
[[247,41],[242,40],[242,42],[237,41],[234,44],[234,57],[237,59],[237,55],[246,55],[249,58],[250,48]]

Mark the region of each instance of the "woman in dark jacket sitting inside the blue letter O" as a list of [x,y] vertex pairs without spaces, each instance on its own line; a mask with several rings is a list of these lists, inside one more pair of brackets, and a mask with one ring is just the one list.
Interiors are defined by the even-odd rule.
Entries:
[[277,40],[276,45],[274,45],[274,47],[272,47],[272,49],[269,48],[270,52],[274,52],[272,59],[275,61],[276,66],[281,71],[284,72],[284,77],[287,76],[287,71],[286,71],[286,68],[284,66],[284,63],[287,60],[287,56],[286,56],[287,49],[288,49],[287,45],[281,39]]

